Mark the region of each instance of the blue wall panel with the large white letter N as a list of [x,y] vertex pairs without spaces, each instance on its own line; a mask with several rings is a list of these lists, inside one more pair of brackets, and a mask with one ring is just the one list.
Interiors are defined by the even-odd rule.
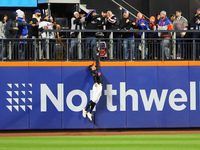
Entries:
[[61,66],[29,67],[32,83],[31,129],[60,129],[62,127],[63,86]]

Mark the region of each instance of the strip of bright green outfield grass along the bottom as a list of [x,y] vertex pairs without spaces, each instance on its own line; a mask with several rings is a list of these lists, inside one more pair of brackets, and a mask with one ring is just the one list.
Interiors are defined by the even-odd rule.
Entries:
[[1,137],[0,150],[200,150],[200,134]]

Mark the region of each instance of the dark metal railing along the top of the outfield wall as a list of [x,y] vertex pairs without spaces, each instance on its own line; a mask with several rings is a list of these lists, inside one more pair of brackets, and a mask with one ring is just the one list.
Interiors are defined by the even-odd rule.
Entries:
[[[166,31],[152,30],[46,30],[46,32],[77,32],[76,38],[0,39],[0,60],[93,60],[99,51],[101,59],[112,60],[199,60],[200,31],[170,31],[171,38],[158,38]],[[87,33],[97,33],[87,36]],[[177,38],[186,32],[186,38]],[[122,38],[133,33],[135,38]],[[188,35],[190,34],[190,35]],[[104,36],[103,36],[104,35]],[[153,36],[152,36],[153,35]]]

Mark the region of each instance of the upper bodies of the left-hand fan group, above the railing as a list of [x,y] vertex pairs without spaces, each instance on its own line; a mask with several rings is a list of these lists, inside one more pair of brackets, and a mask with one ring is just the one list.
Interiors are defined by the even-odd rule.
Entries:
[[[9,17],[0,15],[0,38],[42,38],[46,37],[45,29],[56,29],[58,25],[53,21],[52,16],[43,15],[36,9],[32,19],[28,22],[26,14],[18,9]],[[50,35],[55,38],[54,35]]]

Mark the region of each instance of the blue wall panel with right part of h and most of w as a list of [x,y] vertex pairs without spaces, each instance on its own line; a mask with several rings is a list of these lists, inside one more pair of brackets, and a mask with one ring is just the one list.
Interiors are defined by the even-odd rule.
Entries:
[[124,110],[127,112],[127,127],[158,127],[160,93],[157,91],[157,72],[157,66],[126,67],[126,89],[123,91],[127,96],[127,109]]

